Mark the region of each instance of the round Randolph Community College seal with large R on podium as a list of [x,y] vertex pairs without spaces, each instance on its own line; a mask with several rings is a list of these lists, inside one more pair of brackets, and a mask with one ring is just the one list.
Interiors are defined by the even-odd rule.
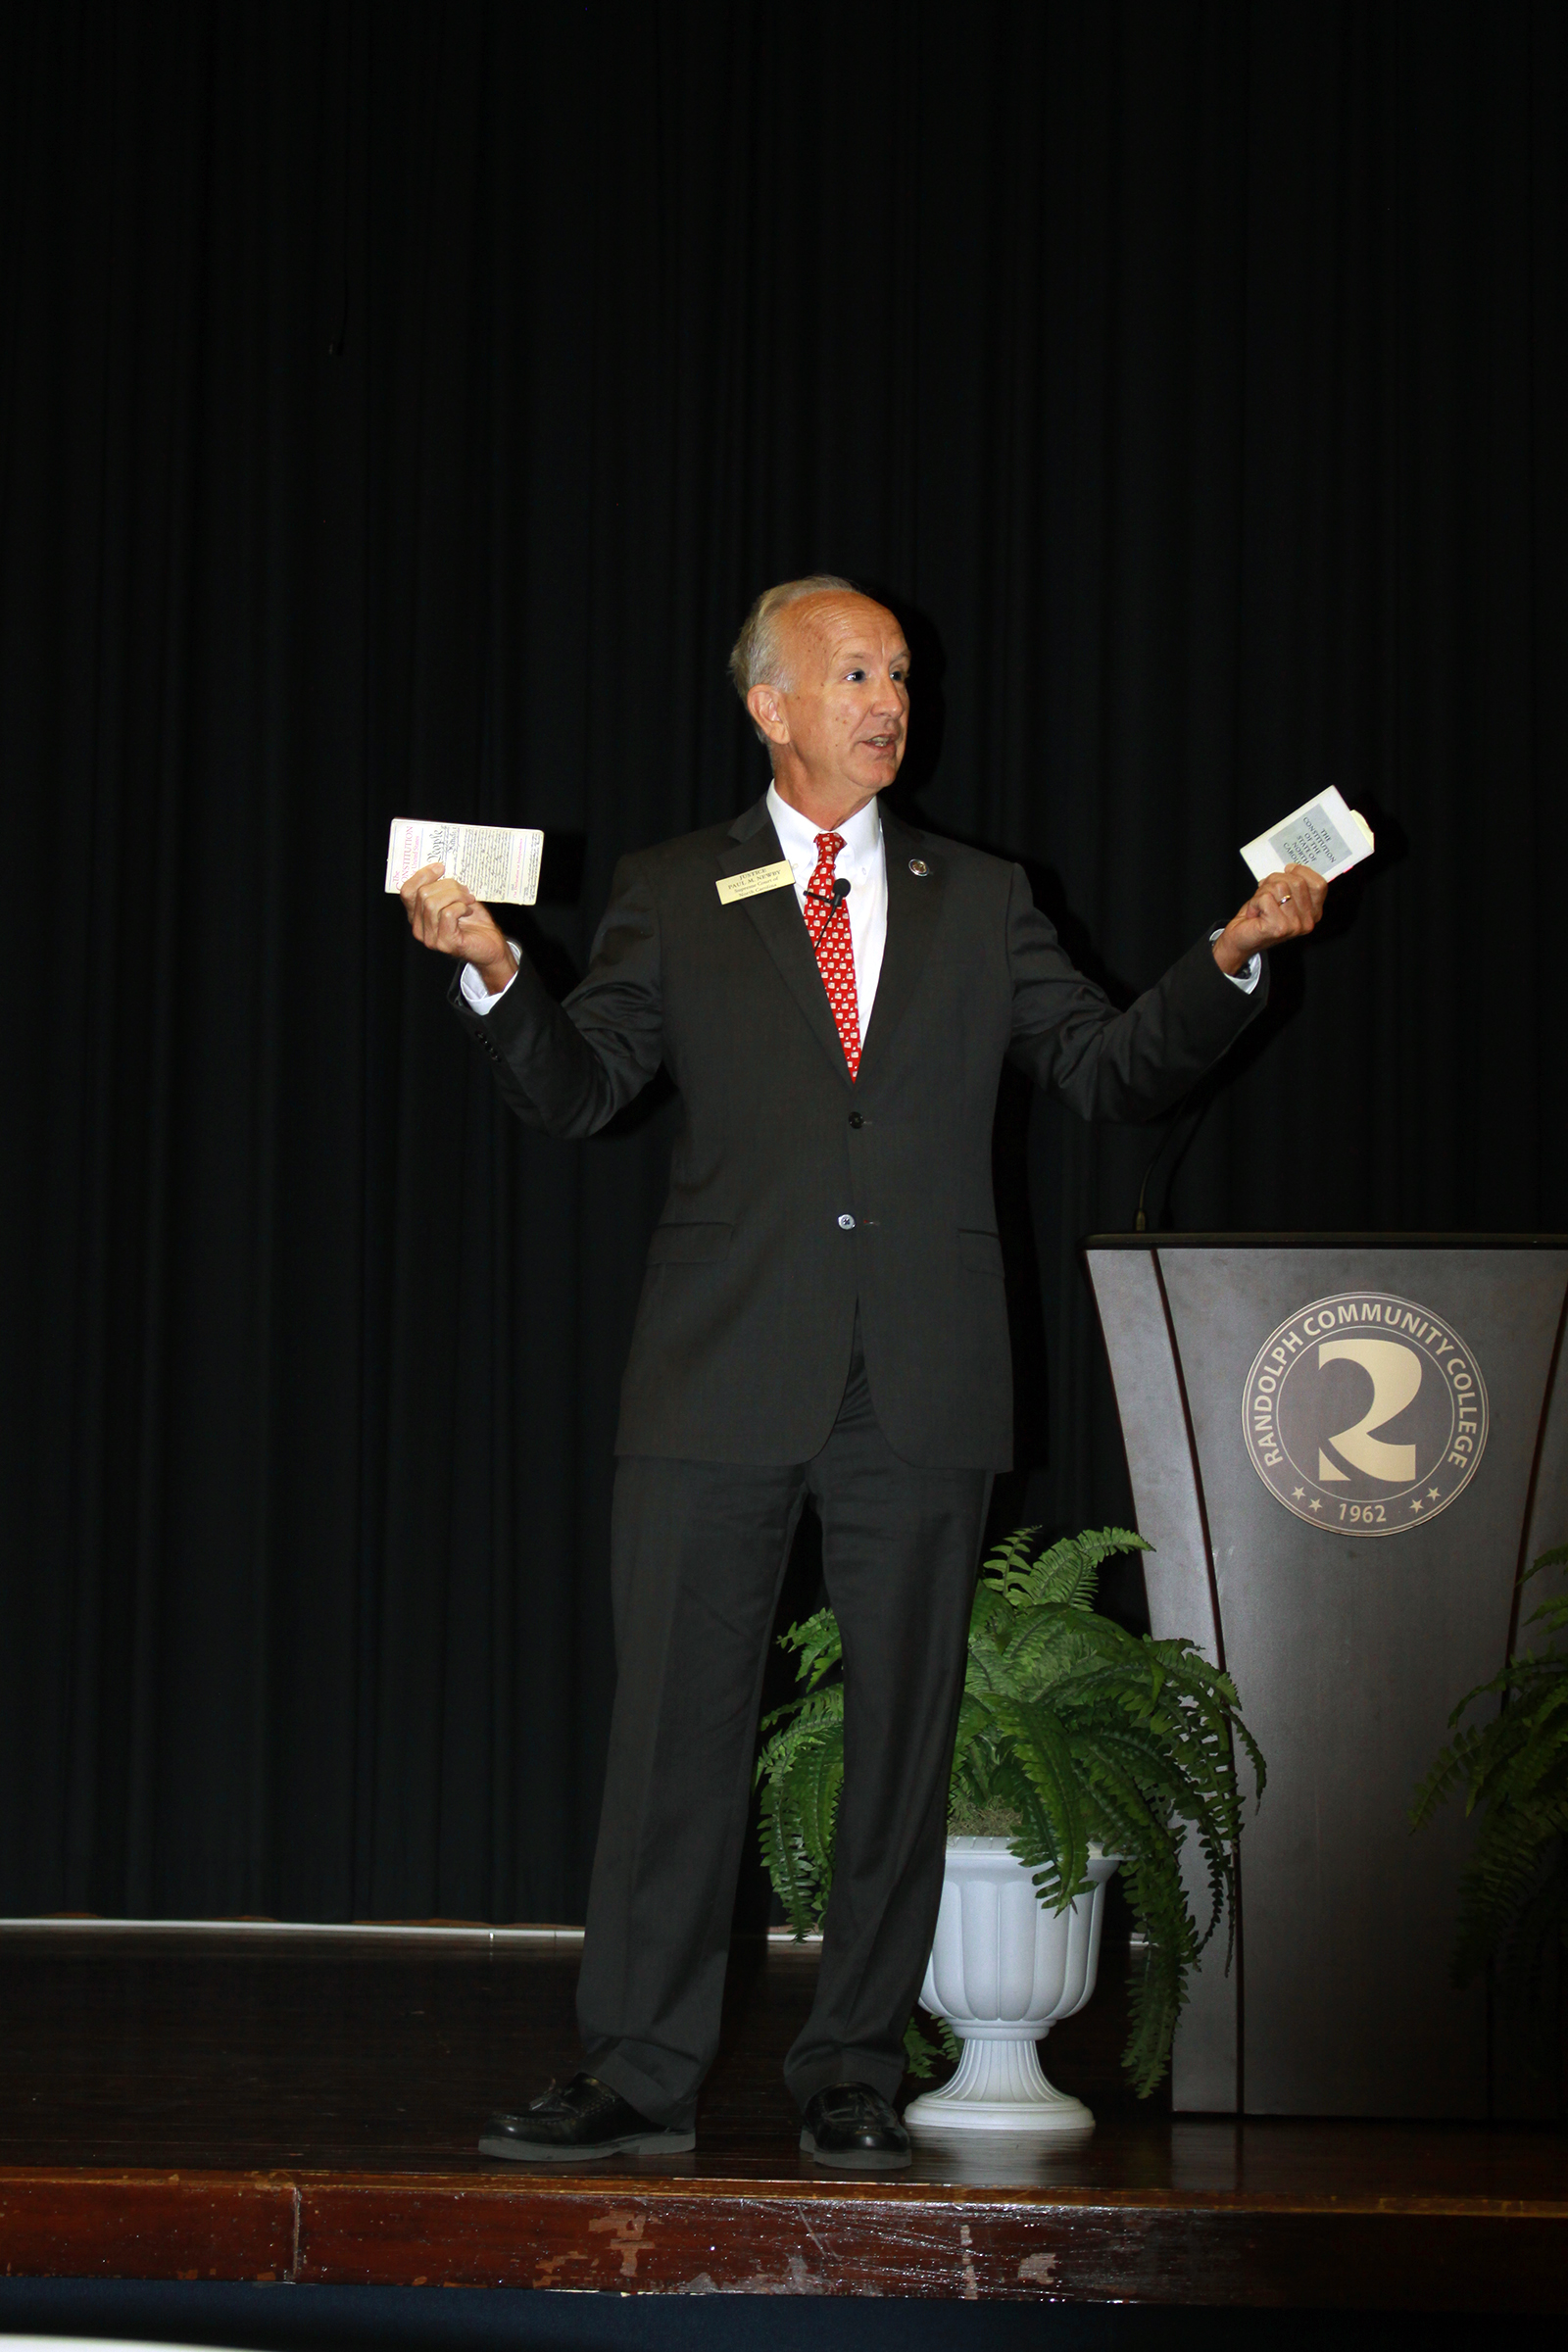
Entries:
[[1286,1510],[1335,1536],[1401,1536],[1453,1503],[1486,1451],[1486,1381],[1441,1315],[1340,1291],[1269,1331],[1241,1430]]

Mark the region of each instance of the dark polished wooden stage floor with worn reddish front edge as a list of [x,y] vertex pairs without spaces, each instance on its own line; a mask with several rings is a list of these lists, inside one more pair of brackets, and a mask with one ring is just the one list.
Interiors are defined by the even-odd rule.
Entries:
[[536,2173],[491,2105],[576,2065],[576,1952],[0,1926],[0,2272],[75,2279],[1568,2310],[1568,2136],[1171,2117],[1110,1983],[1051,2037],[1074,2154],[797,2150],[809,1952],[736,1947],[693,2157]]

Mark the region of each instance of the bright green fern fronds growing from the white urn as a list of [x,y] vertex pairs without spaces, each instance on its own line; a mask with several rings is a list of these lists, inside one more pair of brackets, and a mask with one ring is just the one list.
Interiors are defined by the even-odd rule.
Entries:
[[[1095,1613],[1100,1562],[1147,1552],[1143,1536],[1107,1526],[1030,1557],[1034,1534],[1009,1536],[980,1573],[950,1828],[1011,1837],[1053,1910],[1088,1889],[1091,1846],[1121,1858],[1143,1931],[1121,2063],[1143,2098],[1171,2063],[1187,1976],[1220,1922],[1229,1966],[1244,1804],[1237,1759],[1248,1759],[1258,1795],[1265,1764],[1234,1684],[1192,1642],[1138,1639]],[[804,1936],[827,1907],[844,1783],[832,1609],[792,1625],[783,1644],[799,1651],[802,1693],[762,1726],[762,1856],[790,1926]],[[1182,1884],[1187,1835],[1208,1884],[1204,1926]],[[926,2070],[917,2039],[910,2063]]]

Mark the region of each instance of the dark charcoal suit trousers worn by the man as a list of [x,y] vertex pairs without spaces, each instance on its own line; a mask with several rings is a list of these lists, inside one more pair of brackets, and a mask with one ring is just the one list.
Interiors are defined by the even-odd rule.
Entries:
[[785,2082],[799,2105],[835,2082],[898,2089],[943,1891],[990,1486],[990,1470],[898,1461],[858,1327],[844,1402],[811,1461],[621,1458],[618,1691],[578,2025],[588,2067],[656,2122],[691,2122],[719,2042],[762,1672],[806,1496],[844,1632],[844,1797],[816,2004]]

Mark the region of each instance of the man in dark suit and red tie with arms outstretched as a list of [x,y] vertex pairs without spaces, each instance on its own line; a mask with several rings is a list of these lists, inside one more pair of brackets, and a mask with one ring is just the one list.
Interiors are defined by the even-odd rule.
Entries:
[[621,1392],[618,1689],[578,1980],[585,2070],[480,2147],[578,2161],[693,2145],[773,1606],[806,1503],[844,1632],[844,1795],[811,2018],[785,2063],[802,2147],[907,2164],[891,2098],[943,1882],[947,1771],[990,1486],[1011,1458],[992,1202],[1004,1061],[1084,1117],[1168,1108],[1312,931],[1293,866],[1128,1011],[1086,981],[1018,866],[917,833],[898,774],[910,654],[849,581],[752,607],[731,675],[773,781],[729,826],[616,868],[555,1004],[461,884],[404,906],[510,1108],[590,1136],[679,1091],[670,1197]]

